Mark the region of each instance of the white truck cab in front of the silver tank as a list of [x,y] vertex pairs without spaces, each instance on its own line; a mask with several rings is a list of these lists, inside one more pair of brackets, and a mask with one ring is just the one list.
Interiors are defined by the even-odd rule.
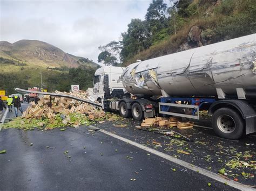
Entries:
[[105,66],[96,70],[93,79],[92,95],[95,100],[101,102],[104,95],[113,95],[115,92],[123,91],[124,89],[121,75],[125,68],[116,66]]

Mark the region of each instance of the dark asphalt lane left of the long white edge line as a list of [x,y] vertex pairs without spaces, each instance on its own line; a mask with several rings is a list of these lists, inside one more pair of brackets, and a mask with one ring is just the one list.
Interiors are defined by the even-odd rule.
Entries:
[[88,128],[7,129],[0,145],[0,190],[232,190]]

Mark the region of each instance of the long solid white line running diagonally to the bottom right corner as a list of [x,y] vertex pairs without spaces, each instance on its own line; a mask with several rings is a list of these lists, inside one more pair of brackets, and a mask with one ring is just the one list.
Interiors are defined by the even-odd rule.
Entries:
[[160,151],[157,151],[157,150],[154,150],[153,148],[150,148],[150,147],[147,147],[147,146],[144,146],[142,144],[139,144],[139,143],[136,143],[136,142],[133,142],[132,140],[129,140],[129,139],[126,139],[124,137],[121,137],[121,136],[118,136],[118,135],[115,135],[111,132],[108,132],[108,131],[105,131],[103,129],[99,129],[99,128],[96,128],[95,126],[92,126],[90,125],[90,128],[92,129],[98,129],[100,132],[103,132],[105,133],[106,135],[109,135],[111,137],[114,137],[114,138],[117,138],[119,140],[122,140],[123,142],[126,142],[126,143],[129,143],[130,145],[133,145],[133,146],[136,146],[138,148],[141,148],[142,150],[144,151],[147,151],[147,152],[150,152],[152,154],[155,154],[157,155],[158,157],[161,157],[161,158],[164,158],[166,160],[169,160],[171,162],[174,162],[180,166],[183,166],[183,167],[186,167],[188,169],[191,169],[192,171],[195,171],[195,172],[198,172],[199,174],[202,174],[204,176],[207,176],[208,178],[211,178],[211,179],[214,179],[214,180],[217,180],[219,182],[222,182],[222,183],[225,183],[227,182],[228,186],[231,186],[233,188],[237,188],[237,189],[240,189],[240,190],[256,190],[250,186],[247,186],[247,185],[243,185],[242,183],[239,183],[239,182],[235,182],[233,180],[227,180],[221,176],[219,176],[218,174],[215,174],[213,172],[210,172],[210,171],[207,171],[206,169],[204,168],[201,168],[201,167],[198,167],[196,165],[192,165],[188,162],[185,162],[183,160],[180,160],[180,159],[177,159],[177,158],[174,158],[168,154],[165,154],[165,153],[162,153]]

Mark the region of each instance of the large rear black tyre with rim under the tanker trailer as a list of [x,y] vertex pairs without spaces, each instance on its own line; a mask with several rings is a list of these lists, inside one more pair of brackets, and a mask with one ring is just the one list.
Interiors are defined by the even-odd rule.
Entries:
[[239,139],[244,133],[244,121],[237,111],[220,108],[212,115],[213,131],[226,139]]

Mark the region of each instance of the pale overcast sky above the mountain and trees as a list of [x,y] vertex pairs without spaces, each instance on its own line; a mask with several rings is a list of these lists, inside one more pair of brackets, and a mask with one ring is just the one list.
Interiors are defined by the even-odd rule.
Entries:
[[0,0],[0,41],[41,40],[97,62],[98,46],[120,39],[151,0]]

